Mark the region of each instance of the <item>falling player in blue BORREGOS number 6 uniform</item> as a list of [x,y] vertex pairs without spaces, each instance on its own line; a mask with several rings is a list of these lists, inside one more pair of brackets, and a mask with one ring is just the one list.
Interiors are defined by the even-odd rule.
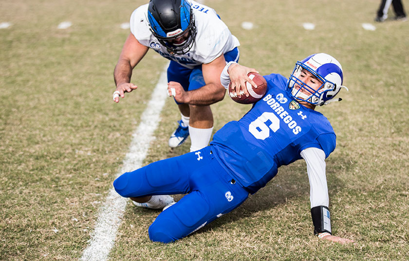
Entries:
[[[255,71],[228,63],[222,72],[224,87],[245,86]],[[240,206],[248,194],[264,187],[282,165],[303,158],[310,181],[314,233],[322,239],[348,243],[331,234],[325,159],[335,149],[330,122],[316,105],[340,101],[343,73],[339,62],[325,53],[308,56],[286,79],[264,76],[267,91],[239,121],[228,122],[210,146],[179,157],[149,164],[122,174],[114,182],[123,197],[187,194],[166,208],[149,226],[152,241],[172,242],[187,236]]]

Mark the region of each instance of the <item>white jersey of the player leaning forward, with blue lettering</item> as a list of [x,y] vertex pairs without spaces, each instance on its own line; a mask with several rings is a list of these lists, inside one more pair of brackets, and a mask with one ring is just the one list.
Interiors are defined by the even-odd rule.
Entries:
[[191,8],[195,16],[197,34],[192,48],[185,54],[171,55],[152,34],[148,21],[148,4],[141,5],[132,12],[130,32],[142,45],[189,69],[210,63],[240,45],[239,40],[230,33],[214,9],[195,1],[191,1]]

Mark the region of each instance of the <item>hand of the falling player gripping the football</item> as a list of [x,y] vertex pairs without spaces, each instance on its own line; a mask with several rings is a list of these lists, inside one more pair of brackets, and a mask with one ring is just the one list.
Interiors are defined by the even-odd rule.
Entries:
[[251,80],[247,74],[250,72],[256,72],[259,73],[256,69],[254,68],[248,68],[245,66],[242,66],[240,64],[232,64],[229,66],[229,69],[227,70],[229,73],[230,77],[230,82],[231,82],[231,87],[232,89],[236,90],[236,95],[240,98],[240,89],[243,90],[244,95],[248,97],[248,91],[246,88],[246,82],[250,83],[252,86],[257,88],[257,84]]

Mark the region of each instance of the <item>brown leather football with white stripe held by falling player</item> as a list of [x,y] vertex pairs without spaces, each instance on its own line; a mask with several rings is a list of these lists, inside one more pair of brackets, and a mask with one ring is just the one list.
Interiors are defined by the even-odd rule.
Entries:
[[230,98],[235,101],[236,103],[239,104],[254,104],[255,102],[258,102],[265,94],[267,90],[267,82],[265,81],[264,77],[261,76],[258,73],[255,72],[250,72],[248,74],[248,77],[252,79],[256,84],[257,88],[253,87],[251,84],[246,82],[246,88],[248,91],[249,96],[246,97],[244,95],[243,90],[240,90],[240,95],[241,97],[239,98],[236,95],[236,91],[234,91],[231,87],[231,83],[229,84],[229,96]]

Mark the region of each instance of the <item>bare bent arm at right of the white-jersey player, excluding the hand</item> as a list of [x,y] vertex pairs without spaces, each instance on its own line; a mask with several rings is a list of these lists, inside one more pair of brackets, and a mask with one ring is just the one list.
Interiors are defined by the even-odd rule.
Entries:
[[223,71],[226,61],[223,54],[212,62],[202,65],[203,78],[206,85],[185,93],[185,104],[210,105],[222,101],[226,90],[220,83],[220,74]]

